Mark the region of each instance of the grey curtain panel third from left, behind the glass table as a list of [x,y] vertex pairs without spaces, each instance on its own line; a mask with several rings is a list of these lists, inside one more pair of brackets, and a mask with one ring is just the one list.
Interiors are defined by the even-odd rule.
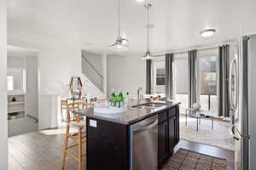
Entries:
[[196,49],[189,51],[189,108],[191,108],[197,101],[196,56]]

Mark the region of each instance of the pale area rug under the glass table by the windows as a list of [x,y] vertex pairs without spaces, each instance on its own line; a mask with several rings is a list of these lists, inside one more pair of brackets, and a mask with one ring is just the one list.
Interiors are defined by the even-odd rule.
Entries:
[[185,116],[180,115],[180,138],[200,144],[209,144],[226,150],[235,150],[235,139],[230,134],[230,122],[214,120],[212,129],[211,119],[202,119],[196,131],[196,119],[188,116],[188,125]]

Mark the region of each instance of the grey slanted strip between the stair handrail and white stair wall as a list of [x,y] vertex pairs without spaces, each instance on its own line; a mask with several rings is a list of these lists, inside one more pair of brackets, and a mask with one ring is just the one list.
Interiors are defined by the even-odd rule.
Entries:
[[96,68],[90,63],[88,59],[82,54],[82,72],[85,77],[90,79],[97,88],[101,91],[103,90],[103,76],[96,70]]

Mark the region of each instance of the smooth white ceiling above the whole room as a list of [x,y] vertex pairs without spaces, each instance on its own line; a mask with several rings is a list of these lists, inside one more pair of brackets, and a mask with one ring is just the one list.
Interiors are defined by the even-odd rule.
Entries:
[[[146,48],[143,3],[122,0],[122,30],[130,51]],[[50,44],[70,42],[96,53],[111,53],[117,36],[117,0],[9,0],[8,40]],[[255,0],[152,0],[153,53],[230,40],[256,33]],[[214,37],[199,32],[215,28]]]

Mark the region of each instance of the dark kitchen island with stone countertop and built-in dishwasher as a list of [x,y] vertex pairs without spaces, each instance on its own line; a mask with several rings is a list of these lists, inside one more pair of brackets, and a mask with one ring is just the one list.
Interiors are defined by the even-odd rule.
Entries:
[[159,169],[179,141],[179,104],[143,101],[118,114],[75,111],[86,116],[87,170]]

